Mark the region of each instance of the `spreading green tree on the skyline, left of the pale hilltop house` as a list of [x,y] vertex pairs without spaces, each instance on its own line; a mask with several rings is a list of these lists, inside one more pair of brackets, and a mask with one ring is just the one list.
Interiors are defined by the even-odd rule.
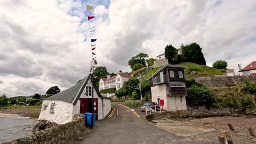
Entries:
[[130,65],[131,69],[133,69],[134,65],[137,63],[142,64],[144,67],[146,66],[148,54],[147,53],[139,53],[138,55],[132,57],[128,64]]

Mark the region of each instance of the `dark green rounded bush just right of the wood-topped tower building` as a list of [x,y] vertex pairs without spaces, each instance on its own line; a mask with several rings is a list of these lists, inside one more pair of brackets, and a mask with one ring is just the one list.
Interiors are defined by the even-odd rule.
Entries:
[[206,106],[211,107],[214,103],[214,96],[210,89],[196,85],[188,88],[187,104],[189,106]]

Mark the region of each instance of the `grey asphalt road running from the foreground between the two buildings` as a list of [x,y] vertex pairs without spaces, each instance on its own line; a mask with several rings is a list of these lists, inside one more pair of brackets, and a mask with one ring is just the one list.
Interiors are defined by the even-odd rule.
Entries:
[[[113,104],[116,109],[126,109],[124,106]],[[92,130],[79,144],[88,143],[180,143],[185,144],[188,139],[173,135],[165,130],[150,125],[146,119],[136,116],[134,113],[115,118],[105,118],[96,122],[95,130]],[[191,143],[191,142],[190,142]]]

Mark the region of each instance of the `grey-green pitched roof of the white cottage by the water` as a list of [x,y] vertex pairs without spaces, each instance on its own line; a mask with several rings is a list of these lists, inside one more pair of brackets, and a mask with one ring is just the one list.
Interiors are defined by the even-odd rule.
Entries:
[[[66,89],[65,91],[57,93],[49,98],[46,98],[44,100],[60,100],[60,101],[65,101],[67,103],[71,103],[71,104],[75,105],[75,104],[77,104],[77,101],[78,101],[80,95],[84,91],[84,88],[85,88],[87,82],[90,80],[90,77],[91,77],[91,74],[86,76],[83,80],[78,82],[76,85]],[[98,97],[100,97],[101,99],[104,99],[104,97],[102,97],[102,95],[98,91],[98,88],[96,87],[95,83],[94,83],[94,88],[98,94]]]

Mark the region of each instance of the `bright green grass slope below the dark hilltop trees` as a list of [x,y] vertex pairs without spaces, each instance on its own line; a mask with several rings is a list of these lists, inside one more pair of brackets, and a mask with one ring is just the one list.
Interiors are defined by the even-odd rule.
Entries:
[[222,71],[216,68],[208,67],[207,65],[199,65],[195,63],[178,63],[177,65],[185,65],[185,75],[189,75],[191,71],[196,71],[196,75],[222,75]]

